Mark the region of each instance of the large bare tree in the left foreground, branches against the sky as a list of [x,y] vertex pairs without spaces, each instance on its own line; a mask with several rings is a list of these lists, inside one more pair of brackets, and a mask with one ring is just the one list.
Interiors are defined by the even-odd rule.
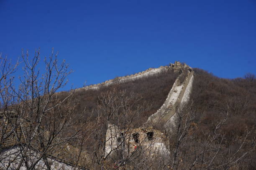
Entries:
[[[83,163],[80,158],[85,154],[82,153],[82,147],[74,147],[72,143],[84,145],[87,140],[84,134],[89,127],[85,127],[85,123],[78,124],[72,118],[75,106],[70,100],[74,90],[63,100],[56,94],[67,84],[67,75],[71,71],[65,60],[58,62],[57,53],[54,54],[52,49],[51,55],[44,58],[46,70],[42,72],[38,68],[39,56],[40,50],[33,57],[28,52],[22,53],[24,75],[19,78],[20,86],[17,87],[10,79],[1,87],[1,146],[10,145],[14,148],[12,152],[5,150],[5,153],[1,153],[1,162],[5,162],[2,166],[16,170],[61,168],[53,165],[54,159],[75,167],[81,166]],[[16,65],[6,67],[7,60],[3,61],[5,78],[15,70]],[[63,152],[69,156],[63,157]]]

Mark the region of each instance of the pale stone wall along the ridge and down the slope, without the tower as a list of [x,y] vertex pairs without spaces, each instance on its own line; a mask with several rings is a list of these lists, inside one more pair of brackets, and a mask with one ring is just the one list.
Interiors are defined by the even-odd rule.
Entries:
[[[194,71],[192,71],[192,68],[185,63],[182,64],[181,62],[175,61],[174,64],[171,63],[169,66],[149,68],[148,70],[145,70],[143,72],[138,72],[136,74],[123,77],[116,77],[115,79],[107,80],[105,82],[95,85],[88,85],[77,90],[97,90],[102,86],[108,86],[114,83],[125,83],[134,79],[139,79],[141,77],[156,75],[168,69],[173,69],[175,72],[180,72],[180,74],[172,85],[172,89],[170,90],[163,105],[159,108],[159,110],[157,110],[156,113],[148,117],[148,120],[145,122],[145,126],[153,126],[156,122],[161,122],[164,123],[167,127],[168,124],[173,122],[172,116],[177,111],[177,106],[183,105],[185,102],[187,102],[187,100],[189,99],[189,93],[192,89]],[[182,76],[186,77],[183,82],[181,82]]]

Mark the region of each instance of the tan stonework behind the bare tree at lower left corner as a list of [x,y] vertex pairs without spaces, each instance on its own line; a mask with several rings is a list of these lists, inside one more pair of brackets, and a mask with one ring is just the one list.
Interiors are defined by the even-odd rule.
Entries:
[[[30,129],[30,123],[27,120],[19,119],[15,115],[8,115],[7,118],[2,112],[0,113],[0,128],[2,128],[0,131],[1,150],[11,151],[18,145],[26,145],[24,135],[21,133],[21,129],[23,132]],[[15,133],[13,129],[15,129]],[[44,133],[44,136],[47,136],[48,134],[48,132],[44,130],[41,130],[41,133]],[[51,145],[58,144],[48,150],[47,155],[49,158],[53,158],[54,160],[60,161],[67,165],[75,165],[76,163],[78,163],[79,167],[87,167],[87,165],[89,165],[91,161],[90,156],[85,151],[80,153],[80,149],[74,145],[65,141],[62,144],[59,144],[61,143],[61,140],[55,140],[56,141],[53,141]],[[37,135],[31,142],[31,146],[35,149],[40,149],[40,143],[38,142]],[[78,155],[80,155],[80,157],[78,157]]]

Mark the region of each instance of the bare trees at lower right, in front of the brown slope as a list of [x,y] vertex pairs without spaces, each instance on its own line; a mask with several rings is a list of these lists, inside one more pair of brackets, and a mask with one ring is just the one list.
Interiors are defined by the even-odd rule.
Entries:
[[[175,123],[170,134],[170,153],[172,170],[228,170],[239,167],[247,156],[255,150],[255,141],[248,140],[252,133],[248,130],[240,143],[226,145],[228,139],[222,129],[230,117],[230,108],[220,113],[218,122],[211,130],[199,129],[195,120],[193,104],[180,107],[175,113]],[[254,136],[255,138],[255,136]],[[248,141],[251,141],[248,143]]]

